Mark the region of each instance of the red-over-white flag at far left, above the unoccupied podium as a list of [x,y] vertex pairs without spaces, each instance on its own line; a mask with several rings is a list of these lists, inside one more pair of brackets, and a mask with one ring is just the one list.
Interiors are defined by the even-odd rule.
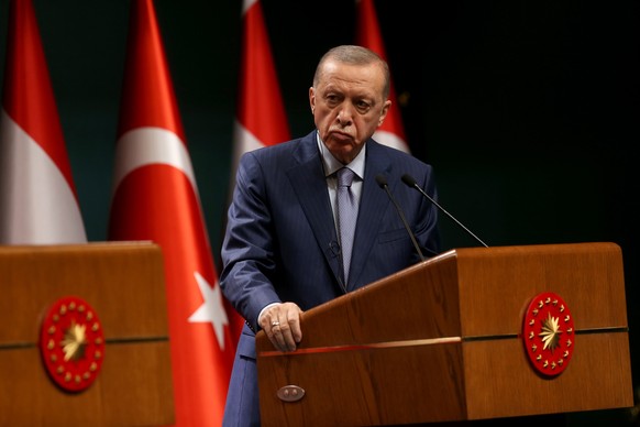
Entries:
[[0,118],[0,243],[86,243],[31,0],[11,1]]

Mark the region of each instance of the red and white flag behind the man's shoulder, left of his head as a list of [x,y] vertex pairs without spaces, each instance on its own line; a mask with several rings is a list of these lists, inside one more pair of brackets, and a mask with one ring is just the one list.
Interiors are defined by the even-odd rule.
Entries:
[[242,58],[234,129],[231,188],[240,156],[290,139],[285,105],[260,0],[244,0]]

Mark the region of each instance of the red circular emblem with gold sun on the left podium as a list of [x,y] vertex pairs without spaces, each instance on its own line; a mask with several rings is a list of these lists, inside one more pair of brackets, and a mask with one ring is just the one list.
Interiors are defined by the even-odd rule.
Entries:
[[80,392],[96,380],[104,359],[104,335],[87,302],[64,297],[42,322],[40,349],[49,376],[67,392]]

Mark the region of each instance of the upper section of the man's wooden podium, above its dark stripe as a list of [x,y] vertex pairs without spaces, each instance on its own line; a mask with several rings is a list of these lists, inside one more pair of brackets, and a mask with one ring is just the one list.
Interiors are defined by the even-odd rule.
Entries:
[[[622,258],[615,243],[463,248],[307,310],[300,348],[515,336],[531,299],[543,292],[570,305],[577,330],[627,327]],[[382,315],[389,309],[393,322]],[[264,331],[256,347],[273,350]]]

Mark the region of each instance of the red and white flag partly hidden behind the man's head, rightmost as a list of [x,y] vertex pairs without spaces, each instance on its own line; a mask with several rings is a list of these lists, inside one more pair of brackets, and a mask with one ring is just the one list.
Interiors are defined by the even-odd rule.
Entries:
[[[356,43],[361,46],[368,47],[385,61],[387,59],[383,36],[378,25],[378,19],[373,0],[355,0],[357,9],[357,31]],[[402,118],[400,117],[400,109],[398,108],[396,89],[391,81],[391,90],[389,99],[393,101],[389,113],[380,125],[374,139],[379,143],[393,146],[409,153],[409,145],[405,136],[405,128],[402,125]]]

